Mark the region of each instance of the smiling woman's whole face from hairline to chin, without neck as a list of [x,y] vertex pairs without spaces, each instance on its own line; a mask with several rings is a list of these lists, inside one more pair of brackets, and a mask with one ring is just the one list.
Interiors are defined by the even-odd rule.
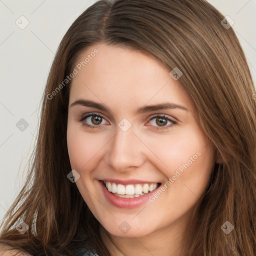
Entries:
[[178,231],[190,221],[215,156],[190,96],[139,51],[95,44],[75,64],[67,146],[91,212],[117,236]]

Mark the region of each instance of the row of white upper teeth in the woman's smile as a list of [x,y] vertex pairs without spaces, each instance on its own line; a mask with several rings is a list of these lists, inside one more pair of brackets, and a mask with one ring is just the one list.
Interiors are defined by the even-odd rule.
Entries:
[[109,192],[117,194],[144,194],[153,191],[157,187],[157,183],[143,183],[143,184],[116,184],[114,182],[104,181],[105,186]]

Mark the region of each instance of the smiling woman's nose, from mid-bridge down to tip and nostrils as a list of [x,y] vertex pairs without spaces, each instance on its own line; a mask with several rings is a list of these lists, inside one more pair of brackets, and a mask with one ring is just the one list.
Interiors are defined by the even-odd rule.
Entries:
[[139,167],[145,161],[146,146],[135,133],[132,126],[123,131],[118,126],[109,142],[107,164],[116,171],[127,171]]

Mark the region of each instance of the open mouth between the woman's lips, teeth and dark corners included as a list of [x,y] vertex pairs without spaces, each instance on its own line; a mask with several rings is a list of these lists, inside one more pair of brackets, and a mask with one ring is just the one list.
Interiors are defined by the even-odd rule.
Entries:
[[105,187],[112,194],[123,197],[123,198],[133,198],[139,197],[141,195],[145,195],[157,187],[160,186],[161,183],[138,183],[138,184],[117,184],[114,182],[103,181]]

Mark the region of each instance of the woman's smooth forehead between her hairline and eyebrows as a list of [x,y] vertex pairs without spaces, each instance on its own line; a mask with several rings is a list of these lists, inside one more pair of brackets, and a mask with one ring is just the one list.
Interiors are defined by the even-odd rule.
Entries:
[[138,50],[91,45],[80,53],[75,68],[70,100],[102,100],[119,107],[171,101],[192,107],[188,93],[178,80],[172,79],[170,70]]

